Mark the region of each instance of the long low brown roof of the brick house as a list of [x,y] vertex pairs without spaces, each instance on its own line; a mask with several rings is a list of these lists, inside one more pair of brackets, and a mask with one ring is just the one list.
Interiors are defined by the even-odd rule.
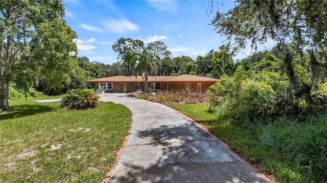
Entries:
[[[102,77],[94,80],[87,80],[90,83],[118,83],[118,82],[143,82],[142,76],[124,76],[116,75],[111,77]],[[178,76],[149,76],[149,82],[175,83],[175,82],[217,82],[218,79],[210,77],[201,77],[196,75],[178,75]]]

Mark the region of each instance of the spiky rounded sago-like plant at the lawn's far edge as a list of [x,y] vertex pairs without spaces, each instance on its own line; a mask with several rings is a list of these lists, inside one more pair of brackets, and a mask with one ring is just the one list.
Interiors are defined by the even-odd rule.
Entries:
[[99,99],[100,96],[90,90],[68,90],[67,95],[62,97],[60,107],[79,110],[92,109],[99,106]]

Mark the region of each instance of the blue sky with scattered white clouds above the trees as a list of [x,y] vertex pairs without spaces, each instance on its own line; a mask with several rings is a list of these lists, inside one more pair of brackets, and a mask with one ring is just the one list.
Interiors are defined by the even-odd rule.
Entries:
[[[165,42],[173,57],[196,60],[209,50],[219,50],[224,37],[208,25],[215,13],[206,13],[204,1],[85,1],[64,0],[67,24],[77,33],[79,57],[112,64],[118,54],[111,46],[121,37],[141,39],[145,43]],[[214,12],[227,11],[233,1],[215,2]],[[234,59],[245,58],[251,49],[241,50]]]

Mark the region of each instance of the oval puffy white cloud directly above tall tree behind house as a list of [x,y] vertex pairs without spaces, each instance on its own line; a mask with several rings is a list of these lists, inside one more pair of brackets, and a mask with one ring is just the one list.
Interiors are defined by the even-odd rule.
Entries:
[[115,20],[110,18],[103,25],[108,31],[115,34],[125,34],[139,30],[138,25],[130,22],[128,19]]

